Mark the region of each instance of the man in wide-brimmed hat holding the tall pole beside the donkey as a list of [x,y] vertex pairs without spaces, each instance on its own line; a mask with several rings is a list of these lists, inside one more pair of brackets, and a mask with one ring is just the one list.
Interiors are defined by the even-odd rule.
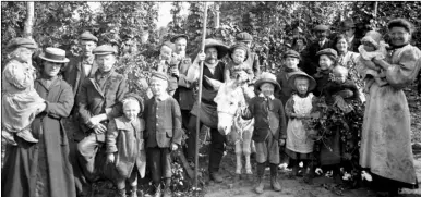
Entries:
[[[196,135],[196,120],[197,112],[201,112],[201,126],[205,124],[211,127],[211,152],[209,152],[209,176],[216,183],[222,182],[219,175],[219,164],[224,156],[224,143],[227,140],[225,135],[218,132],[218,115],[214,98],[218,89],[205,79],[205,76],[214,81],[224,83],[225,63],[219,61],[228,53],[228,47],[215,39],[205,40],[205,52],[200,53],[194,61],[193,66],[199,66],[200,61],[204,61],[203,67],[203,85],[202,85],[202,106],[199,108],[197,102],[194,103],[189,120],[189,138],[188,138],[188,160],[194,161],[195,156],[195,135]],[[192,66],[192,67],[193,67]],[[195,76],[199,76],[199,70]],[[197,78],[192,79],[191,83],[196,82]]]

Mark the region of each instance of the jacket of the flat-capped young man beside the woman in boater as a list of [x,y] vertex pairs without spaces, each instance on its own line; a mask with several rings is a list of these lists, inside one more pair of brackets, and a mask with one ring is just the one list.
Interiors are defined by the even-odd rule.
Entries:
[[[93,131],[87,125],[92,116],[107,113],[108,120],[111,120],[122,115],[121,101],[129,90],[125,77],[111,71],[104,86],[104,88],[99,87],[95,78],[85,78],[77,94],[80,125],[85,135]],[[107,123],[108,121],[104,122],[106,126]],[[77,140],[79,137],[75,136],[75,139]],[[97,139],[104,141],[105,134],[97,135]]]

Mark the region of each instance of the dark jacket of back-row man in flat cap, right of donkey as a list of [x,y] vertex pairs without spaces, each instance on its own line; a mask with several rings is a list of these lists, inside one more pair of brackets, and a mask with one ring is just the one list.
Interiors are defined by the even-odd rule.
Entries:
[[318,67],[318,58],[316,57],[316,53],[326,48],[333,48],[332,41],[327,38],[323,46],[320,46],[318,41],[314,41],[309,46],[306,54],[304,54],[305,64],[302,70],[310,76],[313,76]]

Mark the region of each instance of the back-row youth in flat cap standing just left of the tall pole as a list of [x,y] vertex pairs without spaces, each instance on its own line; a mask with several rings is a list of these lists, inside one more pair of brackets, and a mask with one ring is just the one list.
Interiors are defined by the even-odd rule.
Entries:
[[173,95],[173,98],[179,102],[182,116],[182,126],[185,130],[190,119],[190,110],[193,107],[193,84],[185,79],[188,70],[192,64],[191,59],[185,56],[185,47],[188,44],[187,35],[176,35],[171,38],[171,42],[175,44],[175,50],[172,53],[171,66],[178,67],[178,70],[171,70],[171,74],[178,78],[178,88]]

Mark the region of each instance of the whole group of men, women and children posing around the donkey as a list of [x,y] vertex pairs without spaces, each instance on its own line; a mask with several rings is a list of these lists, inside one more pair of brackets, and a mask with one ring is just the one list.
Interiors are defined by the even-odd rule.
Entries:
[[[37,57],[41,60],[38,76],[32,65],[37,45],[15,38],[8,45],[9,62],[2,71],[2,137],[8,141],[2,195],[88,196],[92,183],[106,176],[119,196],[127,196],[129,183],[134,197],[137,177],[148,169],[155,196],[171,196],[170,153],[181,148],[185,134],[187,159],[193,163],[199,114],[200,124],[211,128],[209,178],[221,183],[219,165],[227,136],[218,131],[214,98],[221,83],[239,78],[245,78],[239,88],[254,85],[256,93],[240,110],[243,119],[255,121],[256,193],[263,193],[267,163],[273,189],[281,189],[277,165],[284,146],[292,176],[303,161],[304,181],[311,183],[318,137],[305,122],[323,115],[315,103],[318,98],[346,113],[352,110],[350,101],[365,101],[360,165],[387,184],[390,195],[400,187],[418,187],[410,113],[402,91],[421,67],[421,51],[409,44],[413,27],[406,20],[393,20],[387,25],[388,45],[372,30],[358,46],[349,36],[354,25],[347,23],[347,27],[345,35],[330,41],[328,26],[317,25],[318,40],[286,51],[285,69],[277,76],[261,73],[248,33],[238,34],[231,47],[206,39],[205,50],[193,61],[185,54],[188,36],[176,35],[160,46],[157,63],[151,65],[153,97],[146,100],[129,93],[125,77],[115,71],[116,49],[97,46],[98,38],[88,32],[80,36],[82,54],[74,59],[65,58],[62,49],[46,48]],[[225,63],[227,54],[230,61]],[[193,88],[200,77],[202,100],[197,102]],[[67,121],[77,127],[74,133],[68,133]],[[339,137],[334,132],[326,139],[332,146],[317,152],[321,165],[334,173],[339,173],[341,160]]]

